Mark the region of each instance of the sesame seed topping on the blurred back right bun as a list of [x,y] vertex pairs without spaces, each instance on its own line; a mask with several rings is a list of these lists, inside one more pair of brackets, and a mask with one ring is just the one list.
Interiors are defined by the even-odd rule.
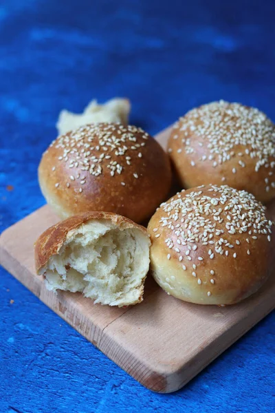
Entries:
[[[202,160],[206,157],[209,160],[218,157],[217,163],[221,165],[236,154],[240,157],[246,154],[254,162],[256,172],[263,165],[265,167],[270,165],[272,168],[275,165],[270,162],[270,157],[275,158],[274,125],[263,112],[254,107],[245,107],[224,100],[212,102],[192,109],[179,118],[174,125],[174,131],[177,136],[183,134],[186,136],[184,138],[186,153],[196,153],[197,147],[200,147],[203,140],[204,147],[208,148],[210,153],[204,154]],[[195,138],[190,140],[188,136],[194,135],[194,131]],[[194,139],[197,139],[198,145],[194,144]],[[240,152],[239,145],[246,147],[245,151]],[[241,167],[245,167],[243,160],[238,160],[238,163]],[[212,165],[215,167],[216,162]],[[232,173],[236,173],[236,168],[232,169]],[[269,191],[270,187],[265,190]]]

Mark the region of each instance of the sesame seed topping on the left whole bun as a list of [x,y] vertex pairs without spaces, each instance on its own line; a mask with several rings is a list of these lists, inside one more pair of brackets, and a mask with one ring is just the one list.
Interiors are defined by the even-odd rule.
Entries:
[[[135,126],[98,123],[59,136],[52,146],[58,149],[57,159],[68,161],[69,168],[89,171],[91,176],[100,176],[109,169],[110,175],[115,176],[115,173],[127,173],[127,165],[131,165],[131,150],[144,147],[146,142],[142,140],[148,138],[146,132]],[[137,156],[142,158],[142,152]]]

